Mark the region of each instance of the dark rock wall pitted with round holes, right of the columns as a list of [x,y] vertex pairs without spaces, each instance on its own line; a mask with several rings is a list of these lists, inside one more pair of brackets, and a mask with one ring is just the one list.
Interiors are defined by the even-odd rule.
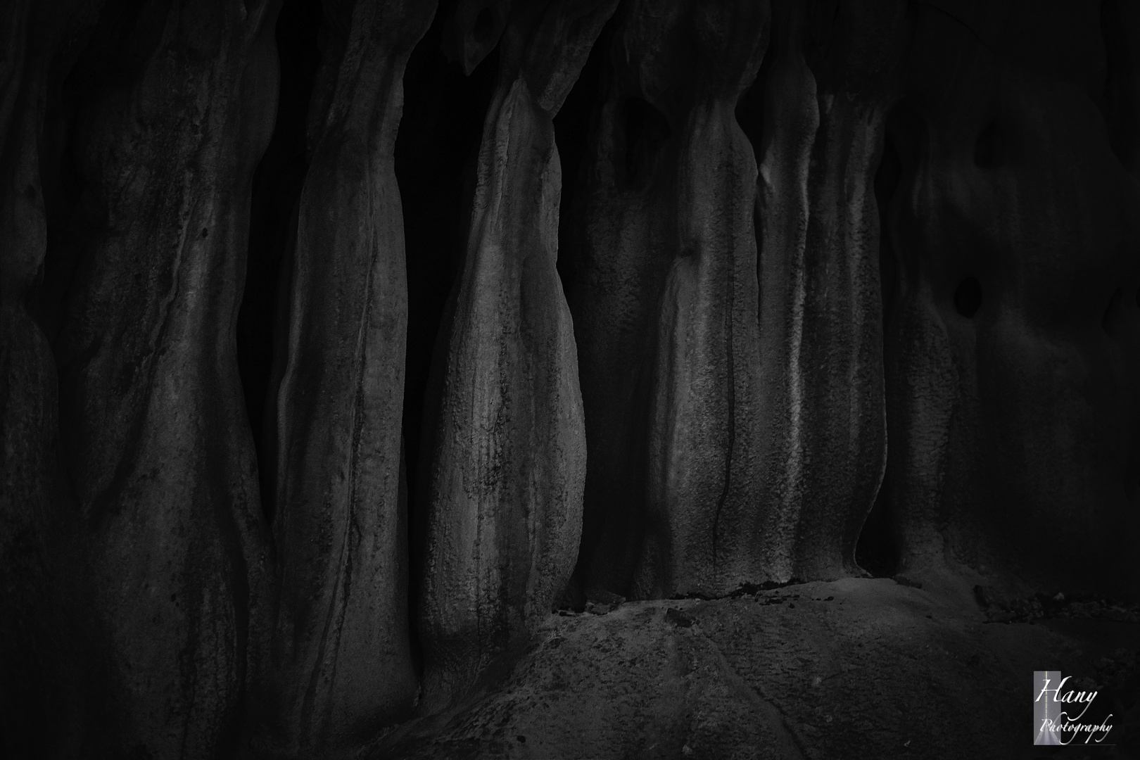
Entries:
[[1100,8],[1051,8],[917,18],[891,126],[893,509],[914,572],[1135,598],[1140,180],[1106,129],[1135,92],[1105,88],[1133,74]]

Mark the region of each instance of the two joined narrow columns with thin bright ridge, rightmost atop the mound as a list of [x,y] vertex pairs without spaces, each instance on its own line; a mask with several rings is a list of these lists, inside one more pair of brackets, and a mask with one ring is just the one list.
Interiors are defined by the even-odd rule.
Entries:
[[773,2],[763,82],[762,541],[780,581],[854,569],[887,456],[873,181],[905,3],[832,6]]

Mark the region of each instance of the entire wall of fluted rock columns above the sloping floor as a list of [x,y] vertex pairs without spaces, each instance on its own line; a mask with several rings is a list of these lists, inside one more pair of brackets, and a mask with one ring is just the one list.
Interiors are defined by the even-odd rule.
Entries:
[[1130,3],[13,0],[0,44],[11,757],[352,753],[586,599],[1137,600]]

